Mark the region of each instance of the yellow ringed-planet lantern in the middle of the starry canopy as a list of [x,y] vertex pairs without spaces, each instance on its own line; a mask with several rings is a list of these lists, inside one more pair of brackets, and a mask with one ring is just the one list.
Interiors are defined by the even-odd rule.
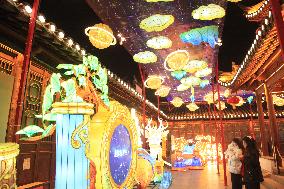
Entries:
[[166,57],[164,67],[168,71],[179,71],[185,67],[188,61],[189,53],[187,50],[177,50]]

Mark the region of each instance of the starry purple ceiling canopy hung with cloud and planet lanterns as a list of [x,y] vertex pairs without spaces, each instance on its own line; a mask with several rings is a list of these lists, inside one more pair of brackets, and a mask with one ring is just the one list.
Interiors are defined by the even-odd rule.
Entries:
[[[105,27],[107,34],[123,37],[133,63],[147,74],[145,87],[167,97],[175,107],[185,103],[190,111],[198,109],[195,101],[210,99],[226,0],[87,2],[112,28]],[[110,45],[115,42],[111,37],[103,40]]]

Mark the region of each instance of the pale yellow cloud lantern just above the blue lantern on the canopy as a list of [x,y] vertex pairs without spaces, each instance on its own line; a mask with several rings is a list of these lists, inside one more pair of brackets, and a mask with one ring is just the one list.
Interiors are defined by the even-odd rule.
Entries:
[[226,12],[225,9],[216,4],[209,4],[207,6],[200,6],[192,12],[192,17],[197,20],[214,20],[216,18],[223,18]]

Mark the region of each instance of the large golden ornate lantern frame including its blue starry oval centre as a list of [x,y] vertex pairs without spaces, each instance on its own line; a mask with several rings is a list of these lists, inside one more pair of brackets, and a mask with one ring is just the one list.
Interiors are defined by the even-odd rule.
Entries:
[[137,127],[127,107],[116,101],[110,102],[109,109],[98,107],[89,127],[87,151],[90,162],[95,163],[95,188],[133,188],[139,171],[137,136]]

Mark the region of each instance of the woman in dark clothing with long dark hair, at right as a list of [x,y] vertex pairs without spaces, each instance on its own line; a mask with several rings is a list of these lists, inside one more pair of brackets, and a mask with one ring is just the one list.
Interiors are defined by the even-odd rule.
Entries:
[[243,138],[245,147],[244,153],[244,183],[246,189],[260,189],[263,181],[261,167],[259,163],[260,153],[253,138],[246,136]]

